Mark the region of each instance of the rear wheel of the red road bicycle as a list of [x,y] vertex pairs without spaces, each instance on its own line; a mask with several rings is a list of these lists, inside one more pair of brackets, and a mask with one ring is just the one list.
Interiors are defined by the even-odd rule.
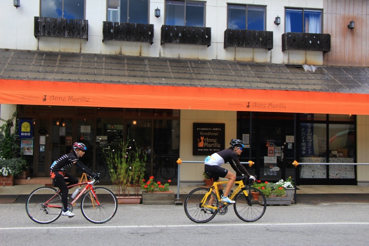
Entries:
[[62,214],[62,197],[52,187],[35,189],[27,198],[26,212],[31,220],[40,224],[56,221]]

